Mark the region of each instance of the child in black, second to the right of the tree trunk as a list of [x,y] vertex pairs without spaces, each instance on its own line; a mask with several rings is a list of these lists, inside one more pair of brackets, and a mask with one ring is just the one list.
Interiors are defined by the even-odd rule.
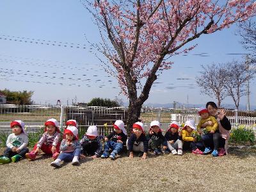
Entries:
[[159,121],[154,120],[150,123],[150,131],[147,137],[149,140],[148,145],[154,150],[155,155],[159,156],[162,153],[161,145],[163,145],[163,150],[166,150],[167,141],[162,134]]

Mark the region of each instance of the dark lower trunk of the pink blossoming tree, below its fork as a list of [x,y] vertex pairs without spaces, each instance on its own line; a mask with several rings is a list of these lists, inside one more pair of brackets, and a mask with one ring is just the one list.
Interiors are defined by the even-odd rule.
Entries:
[[131,134],[132,125],[138,122],[140,113],[141,113],[142,105],[138,104],[137,102],[132,102],[130,100],[129,108],[128,108],[128,119],[127,119],[127,133],[128,135]]

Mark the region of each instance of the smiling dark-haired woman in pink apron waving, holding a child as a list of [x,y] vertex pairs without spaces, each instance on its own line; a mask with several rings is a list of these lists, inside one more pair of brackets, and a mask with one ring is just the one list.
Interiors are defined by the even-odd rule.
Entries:
[[[207,102],[206,108],[209,111],[209,115],[214,116],[218,121],[219,131],[220,131],[220,138],[218,138],[220,143],[214,143],[214,138],[211,138],[211,140],[208,140],[207,142],[211,143],[211,145],[219,144],[220,150],[218,152],[218,156],[224,156],[225,154],[227,154],[227,142],[230,137],[230,129],[231,129],[230,121],[228,120],[226,116],[226,112],[224,110],[221,110],[218,112],[218,108],[215,102],[212,102],[212,101]],[[202,127],[206,127],[207,125],[212,125],[212,124],[213,122],[208,121],[202,124]]]

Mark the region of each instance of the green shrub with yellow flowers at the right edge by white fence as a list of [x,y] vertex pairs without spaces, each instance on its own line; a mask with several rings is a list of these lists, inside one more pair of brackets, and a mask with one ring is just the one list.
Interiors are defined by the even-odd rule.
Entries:
[[252,127],[239,125],[238,128],[232,128],[230,141],[233,143],[253,144],[255,143],[255,131]]

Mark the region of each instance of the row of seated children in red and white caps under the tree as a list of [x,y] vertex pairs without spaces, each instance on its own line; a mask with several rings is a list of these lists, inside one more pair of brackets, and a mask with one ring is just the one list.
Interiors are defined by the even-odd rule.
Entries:
[[[7,138],[7,148],[4,150],[3,156],[0,157],[0,163],[17,162],[22,157],[34,160],[38,152],[42,150],[54,159],[51,166],[60,167],[61,161],[72,161],[73,165],[77,165],[79,158],[84,156],[92,156],[93,159],[97,157],[115,159],[116,154],[122,151],[124,145],[129,151],[130,158],[138,153],[141,159],[146,159],[148,149],[153,150],[155,155],[169,154],[170,152],[173,155],[182,155],[184,149],[191,150],[193,154],[212,152],[212,156],[216,157],[218,156],[217,143],[220,137],[218,122],[209,115],[207,109],[200,109],[198,113],[201,120],[197,129],[194,120],[187,120],[184,127],[180,127],[177,122],[172,122],[164,136],[160,129],[160,123],[154,120],[150,123],[148,134],[145,133],[142,122],[133,124],[131,136],[127,139],[124,122],[116,120],[113,124],[114,131],[104,138],[104,148],[95,125],[88,127],[86,134],[79,140],[76,120],[66,122],[67,127],[61,136],[58,121],[51,118],[45,122],[44,134],[31,152],[27,147],[28,134],[24,129],[24,122],[15,120],[10,124],[12,134]],[[212,125],[204,126],[205,122],[209,121],[212,122]],[[209,142],[211,139],[214,141],[213,146]],[[109,152],[111,153],[109,154]]]

